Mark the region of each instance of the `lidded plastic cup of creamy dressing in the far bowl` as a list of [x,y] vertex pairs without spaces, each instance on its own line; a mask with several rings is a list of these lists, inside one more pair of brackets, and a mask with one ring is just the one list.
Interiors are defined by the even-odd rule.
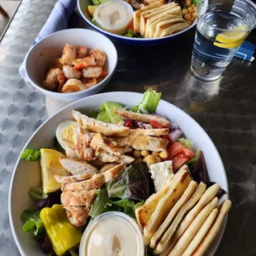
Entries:
[[126,27],[130,23],[133,9],[129,3],[122,0],[111,0],[100,4],[94,18],[99,26],[105,31],[117,35],[126,33]]

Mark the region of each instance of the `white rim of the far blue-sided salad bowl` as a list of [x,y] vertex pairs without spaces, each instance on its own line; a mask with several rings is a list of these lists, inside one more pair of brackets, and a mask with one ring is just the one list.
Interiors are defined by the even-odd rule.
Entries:
[[96,26],[92,23],[92,21],[89,21],[87,17],[84,16],[83,14],[83,11],[80,7],[80,0],[78,0],[78,10],[80,12],[80,15],[83,17],[83,19],[85,21],[88,22],[88,24],[90,24],[90,26],[92,26],[94,29],[96,29],[97,31],[101,31],[102,34],[107,34],[108,36],[112,36],[112,37],[117,37],[119,39],[122,39],[122,40],[134,40],[134,41],[137,41],[137,40],[140,40],[140,41],[155,41],[155,40],[167,40],[167,39],[170,39],[172,37],[175,37],[175,36],[178,36],[180,34],[183,34],[184,32],[190,30],[193,26],[196,26],[197,25],[197,19],[192,23],[191,26],[188,26],[185,30],[183,31],[179,31],[173,35],[170,35],[170,36],[164,36],[164,37],[159,37],[159,38],[138,38],[138,37],[126,37],[126,36],[119,36],[119,35],[116,35],[116,34],[113,34],[111,32],[108,32],[108,31],[104,31],[102,30],[102,28],[100,28],[99,26]]

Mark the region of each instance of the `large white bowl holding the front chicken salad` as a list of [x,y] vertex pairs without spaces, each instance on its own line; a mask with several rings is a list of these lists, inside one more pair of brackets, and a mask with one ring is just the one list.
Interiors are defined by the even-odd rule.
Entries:
[[[55,138],[55,130],[59,125],[59,122],[73,119],[73,109],[87,113],[91,109],[97,109],[106,101],[120,102],[124,106],[135,106],[141,101],[142,97],[143,94],[135,92],[108,92],[87,97],[78,102],[73,102],[68,107],[64,107],[54,116],[51,116],[50,119],[45,121],[45,123],[31,136],[31,139],[27,142],[24,149],[40,149],[42,147],[52,146]],[[192,117],[188,116],[187,113],[168,102],[159,102],[157,112],[167,116],[173,123],[178,124],[187,138],[193,141],[195,147],[203,151],[211,181],[219,183],[220,187],[228,192],[225,168],[220,159],[220,154],[201,126],[199,126]],[[22,231],[20,219],[22,211],[35,207],[28,196],[30,187],[34,186],[40,186],[39,163],[27,163],[22,159],[18,159],[12,176],[9,193],[9,217],[12,234],[22,255],[40,256],[45,254],[40,251],[35,240],[32,239],[32,235]],[[228,198],[228,194],[222,197],[222,200],[226,198]],[[217,236],[214,243],[211,244],[206,255],[213,255],[215,253],[224,229],[225,224],[222,226],[220,234]]]

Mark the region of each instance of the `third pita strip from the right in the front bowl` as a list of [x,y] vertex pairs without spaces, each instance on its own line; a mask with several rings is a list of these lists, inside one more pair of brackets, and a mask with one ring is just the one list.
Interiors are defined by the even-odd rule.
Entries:
[[187,227],[187,230],[185,230],[182,237],[178,239],[178,242],[175,244],[168,256],[180,256],[183,254],[183,251],[186,249],[192,238],[197,234],[197,231],[200,229],[207,216],[209,216],[211,211],[216,207],[218,201],[218,198],[214,197],[211,202],[201,209],[196,218]]

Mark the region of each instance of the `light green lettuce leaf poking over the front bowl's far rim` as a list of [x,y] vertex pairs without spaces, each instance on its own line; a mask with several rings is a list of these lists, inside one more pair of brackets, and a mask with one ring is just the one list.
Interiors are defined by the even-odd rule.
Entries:
[[139,105],[132,107],[131,111],[141,112],[141,113],[153,113],[159,105],[162,93],[155,92],[152,88],[148,88],[144,92],[144,97]]

